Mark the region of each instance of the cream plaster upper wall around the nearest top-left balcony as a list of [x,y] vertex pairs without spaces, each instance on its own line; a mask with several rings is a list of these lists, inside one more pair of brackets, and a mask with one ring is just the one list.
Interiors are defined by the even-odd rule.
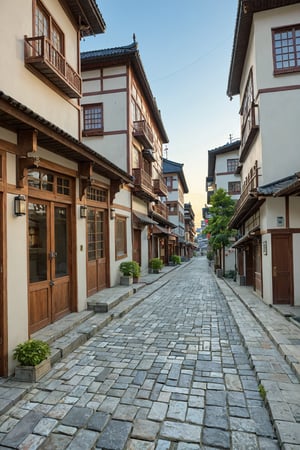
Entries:
[[[77,69],[77,33],[58,0],[46,3],[65,34],[66,59]],[[1,17],[5,18],[0,26],[0,49],[5,61],[5,70],[0,71],[1,90],[78,138],[77,101],[61,97],[24,65],[24,35],[32,36],[32,1],[2,2]]]

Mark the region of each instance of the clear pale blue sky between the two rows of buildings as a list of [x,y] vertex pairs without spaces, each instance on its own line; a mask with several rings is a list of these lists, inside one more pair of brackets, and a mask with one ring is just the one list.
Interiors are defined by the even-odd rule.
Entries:
[[206,202],[207,151],[239,137],[239,101],[226,96],[238,0],[97,0],[106,32],[81,50],[128,45],[133,33],[169,137],[183,163],[196,226]]

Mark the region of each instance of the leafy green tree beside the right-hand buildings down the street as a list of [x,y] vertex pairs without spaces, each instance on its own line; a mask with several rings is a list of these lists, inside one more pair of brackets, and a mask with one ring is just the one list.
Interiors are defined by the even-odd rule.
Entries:
[[[218,255],[221,263],[221,255],[223,253],[223,270],[225,266],[225,247],[230,244],[230,237],[236,234],[235,230],[228,228],[228,223],[234,213],[235,201],[226,193],[224,189],[218,189],[211,197],[211,208],[209,214],[211,218],[205,232],[210,235],[209,245]],[[223,250],[223,252],[222,252]]]

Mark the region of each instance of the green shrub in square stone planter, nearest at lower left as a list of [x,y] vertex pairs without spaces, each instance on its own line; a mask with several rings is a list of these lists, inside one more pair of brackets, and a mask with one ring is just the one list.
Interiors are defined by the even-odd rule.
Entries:
[[19,381],[36,382],[50,369],[50,347],[47,342],[29,339],[17,345],[13,358],[19,363],[15,368],[15,377]]

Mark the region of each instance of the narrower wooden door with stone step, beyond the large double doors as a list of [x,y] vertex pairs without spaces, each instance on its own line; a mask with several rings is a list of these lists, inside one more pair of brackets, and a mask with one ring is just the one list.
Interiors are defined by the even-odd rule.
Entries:
[[88,296],[108,286],[106,218],[106,211],[88,208]]

